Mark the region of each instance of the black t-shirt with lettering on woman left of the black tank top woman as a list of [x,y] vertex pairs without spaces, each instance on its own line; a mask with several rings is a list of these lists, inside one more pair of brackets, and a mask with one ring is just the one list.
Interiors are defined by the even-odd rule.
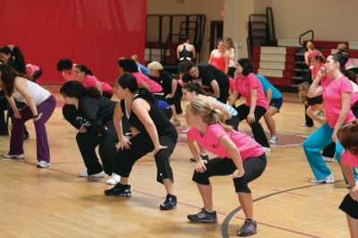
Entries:
[[78,110],[74,106],[64,106],[63,114],[75,128],[79,129],[83,125],[89,132],[105,135],[107,129],[104,124],[113,120],[115,104],[115,101],[103,97],[82,97]]

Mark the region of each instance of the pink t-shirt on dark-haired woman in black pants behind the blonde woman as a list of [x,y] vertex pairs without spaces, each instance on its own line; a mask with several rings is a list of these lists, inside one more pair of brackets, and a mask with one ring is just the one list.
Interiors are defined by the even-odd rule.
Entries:
[[247,76],[239,75],[235,79],[236,90],[246,99],[246,106],[251,106],[251,89],[257,89],[256,106],[263,106],[268,109],[268,101],[262,89],[262,84],[256,75],[250,72]]

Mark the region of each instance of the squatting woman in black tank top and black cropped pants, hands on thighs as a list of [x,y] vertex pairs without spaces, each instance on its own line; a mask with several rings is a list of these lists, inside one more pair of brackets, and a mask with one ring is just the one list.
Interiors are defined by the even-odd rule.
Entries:
[[[169,210],[176,207],[173,195],[173,171],[169,157],[173,153],[178,134],[166,115],[158,108],[155,98],[147,89],[139,89],[132,74],[124,74],[115,82],[115,93],[121,101],[115,107],[115,131],[121,142],[115,160],[115,174],[121,181],[110,190],[107,196],[132,196],[131,185],[128,184],[132,166],[141,157],[154,150],[154,158],[158,169],[157,181],[166,187],[166,200],[160,209]],[[132,127],[138,131],[131,139],[124,137],[121,118],[125,116]]]

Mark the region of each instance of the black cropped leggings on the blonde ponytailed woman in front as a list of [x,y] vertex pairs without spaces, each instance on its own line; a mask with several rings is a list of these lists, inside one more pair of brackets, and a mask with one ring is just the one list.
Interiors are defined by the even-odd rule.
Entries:
[[[267,159],[265,153],[263,153],[260,157],[249,157],[246,159],[243,162],[243,170],[245,172],[243,175],[244,180],[247,183],[250,183],[260,177],[266,168],[266,164]],[[209,185],[209,177],[233,174],[237,169],[233,160],[227,157],[214,157],[209,159],[205,166],[207,167],[207,170],[204,173],[194,171],[194,174],[192,175],[193,182]]]

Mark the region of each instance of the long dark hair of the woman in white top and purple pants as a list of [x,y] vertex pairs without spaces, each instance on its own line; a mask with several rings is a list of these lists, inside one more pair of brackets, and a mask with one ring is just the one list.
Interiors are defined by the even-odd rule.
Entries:
[[29,76],[21,72],[15,71],[12,66],[7,64],[0,64],[0,72],[1,81],[3,81],[4,83],[4,93],[8,97],[11,97],[13,95],[15,78],[17,76],[30,80]]

